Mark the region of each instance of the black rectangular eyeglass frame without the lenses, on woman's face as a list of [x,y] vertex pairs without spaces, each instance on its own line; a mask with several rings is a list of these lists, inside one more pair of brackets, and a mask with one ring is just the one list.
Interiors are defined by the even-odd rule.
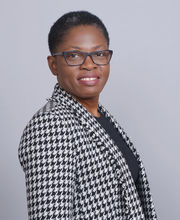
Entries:
[[[93,60],[93,58],[92,58],[92,55],[93,55],[93,54],[96,54],[96,53],[105,52],[105,51],[110,52],[110,58],[109,58],[108,63],[106,63],[106,64],[98,64],[98,63],[94,62],[94,60]],[[71,53],[71,52],[72,52],[72,53],[75,53],[75,52],[83,53],[83,54],[85,55],[83,62],[82,62],[81,64],[69,64],[68,61],[67,61],[67,59],[66,59],[66,57],[67,57],[67,53]],[[98,66],[104,66],[104,65],[109,64],[112,55],[113,55],[113,51],[112,51],[112,50],[99,50],[99,51],[93,51],[93,52],[90,52],[90,53],[88,53],[88,52],[83,52],[83,51],[79,51],[79,50],[71,50],[71,51],[63,51],[63,52],[58,52],[58,53],[52,54],[53,57],[55,57],[55,56],[64,56],[64,59],[65,59],[65,61],[66,61],[66,63],[67,63],[68,66],[81,66],[81,65],[83,65],[84,62],[86,61],[87,56],[89,56],[89,57],[91,58],[91,60],[92,60],[92,62],[93,62],[94,64],[96,64],[96,65],[98,65]]]

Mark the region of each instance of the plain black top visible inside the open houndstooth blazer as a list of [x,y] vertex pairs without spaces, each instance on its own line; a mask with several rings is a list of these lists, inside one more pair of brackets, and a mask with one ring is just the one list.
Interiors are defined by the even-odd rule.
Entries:
[[101,124],[101,126],[105,129],[105,131],[110,136],[110,138],[119,147],[119,150],[121,151],[124,158],[126,159],[126,162],[129,166],[134,182],[136,183],[136,181],[138,180],[138,175],[139,175],[139,166],[138,166],[138,162],[134,154],[127,146],[123,137],[119,135],[119,132],[116,130],[113,124],[102,113],[100,114],[101,116],[99,118],[95,117],[96,120]]

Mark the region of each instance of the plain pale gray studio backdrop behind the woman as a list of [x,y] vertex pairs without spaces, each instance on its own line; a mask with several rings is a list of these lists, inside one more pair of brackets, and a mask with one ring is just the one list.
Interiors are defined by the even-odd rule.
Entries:
[[71,10],[106,24],[114,50],[101,102],[144,161],[159,219],[179,219],[180,3],[174,0],[0,1],[0,219],[27,219],[17,158],[22,131],[51,96],[47,34]]

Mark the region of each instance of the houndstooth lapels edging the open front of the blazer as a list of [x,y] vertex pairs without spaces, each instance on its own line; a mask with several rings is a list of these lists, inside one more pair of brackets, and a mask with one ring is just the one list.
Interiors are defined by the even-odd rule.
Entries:
[[[65,108],[68,108],[74,114],[79,123],[84,126],[86,132],[91,135],[93,141],[96,142],[97,147],[100,147],[103,153],[108,154],[108,158],[111,163],[115,164],[118,183],[121,189],[120,196],[122,197],[124,203],[123,213],[125,213],[125,216],[128,219],[128,217],[132,216],[134,212],[129,202],[130,197],[132,197],[132,192],[129,189],[133,188],[134,192],[134,187],[132,186],[134,184],[134,181],[122,153],[118,150],[118,146],[113,142],[113,140],[110,139],[109,135],[96,121],[96,119],[71,95],[61,89],[58,84],[55,87],[51,100],[60,102],[61,105],[64,105]],[[113,119],[113,117],[109,114],[109,112],[100,104],[99,109],[104,112],[105,116],[113,122],[114,126],[118,129],[120,134],[122,134],[123,138],[128,143],[129,140],[126,134],[123,132],[122,128],[120,128],[118,123]],[[130,185],[128,185],[127,182]],[[135,198],[137,197],[136,193],[134,196]]]

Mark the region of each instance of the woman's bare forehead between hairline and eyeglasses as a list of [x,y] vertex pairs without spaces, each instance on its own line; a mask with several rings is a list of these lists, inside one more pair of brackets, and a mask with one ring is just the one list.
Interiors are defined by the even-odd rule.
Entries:
[[79,25],[67,31],[58,47],[61,50],[75,47],[86,50],[95,47],[107,48],[107,40],[99,28],[92,25]]

